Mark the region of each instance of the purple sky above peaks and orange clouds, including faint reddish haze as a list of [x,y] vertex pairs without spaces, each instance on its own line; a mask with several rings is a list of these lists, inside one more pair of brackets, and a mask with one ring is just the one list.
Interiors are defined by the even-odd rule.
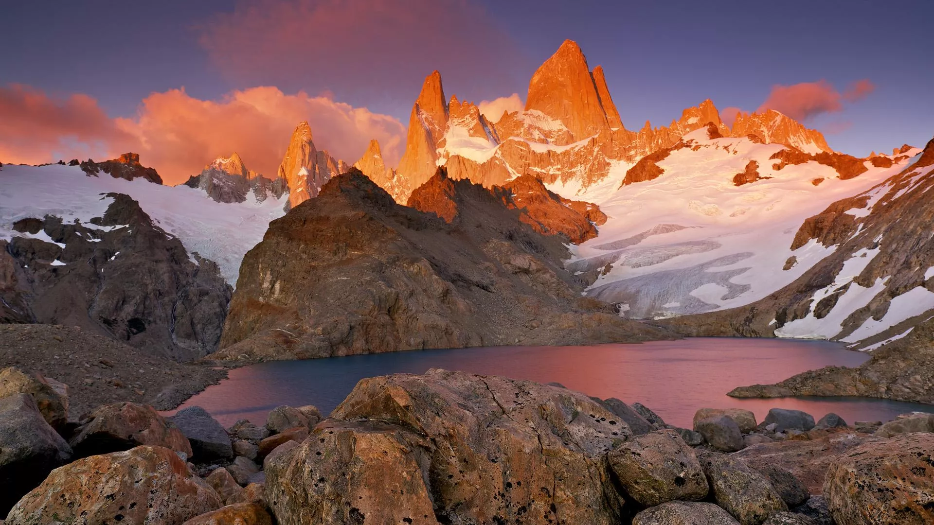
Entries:
[[859,156],[934,133],[929,1],[34,0],[3,10],[0,88],[84,93],[109,117],[134,118],[152,92],[219,101],[276,86],[404,124],[433,69],[448,96],[524,99],[534,69],[571,38],[603,65],[630,129],[667,125],[705,98],[752,111],[775,85],[826,80],[844,92],[868,79],[874,91],[805,124]]

